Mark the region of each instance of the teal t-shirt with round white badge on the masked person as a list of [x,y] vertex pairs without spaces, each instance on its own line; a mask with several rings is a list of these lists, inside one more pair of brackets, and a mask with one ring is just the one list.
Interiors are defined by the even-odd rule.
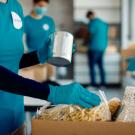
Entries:
[[[35,19],[31,16],[25,17],[26,42],[29,52],[39,50],[46,45],[49,35],[55,32],[54,20],[49,16]],[[45,48],[45,47],[44,47]]]

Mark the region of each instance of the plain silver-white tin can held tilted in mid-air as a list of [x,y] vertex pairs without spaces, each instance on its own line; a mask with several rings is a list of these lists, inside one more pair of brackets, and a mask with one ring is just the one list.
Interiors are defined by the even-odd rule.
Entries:
[[73,40],[73,35],[69,32],[59,31],[52,34],[49,45],[51,56],[48,63],[59,67],[71,64]]

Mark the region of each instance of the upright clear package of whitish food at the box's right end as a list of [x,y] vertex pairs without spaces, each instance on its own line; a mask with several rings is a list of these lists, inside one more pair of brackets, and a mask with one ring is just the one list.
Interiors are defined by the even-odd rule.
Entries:
[[135,87],[127,87],[117,121],[135,122]]

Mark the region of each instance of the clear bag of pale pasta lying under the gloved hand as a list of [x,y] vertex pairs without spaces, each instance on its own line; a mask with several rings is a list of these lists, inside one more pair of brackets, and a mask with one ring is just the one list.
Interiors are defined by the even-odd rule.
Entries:
[[38,119],[55,121],[110,121],[111,114],[105,104],[92,109],[74,105],[60,105],[42,112]]

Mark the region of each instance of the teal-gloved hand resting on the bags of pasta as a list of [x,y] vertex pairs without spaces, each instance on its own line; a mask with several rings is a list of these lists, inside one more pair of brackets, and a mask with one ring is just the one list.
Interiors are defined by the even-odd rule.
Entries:
[[51,86],[48,101],[57,104],[74,104],[91,108],[100,104],[100,98],[78,83],[63,86]]

